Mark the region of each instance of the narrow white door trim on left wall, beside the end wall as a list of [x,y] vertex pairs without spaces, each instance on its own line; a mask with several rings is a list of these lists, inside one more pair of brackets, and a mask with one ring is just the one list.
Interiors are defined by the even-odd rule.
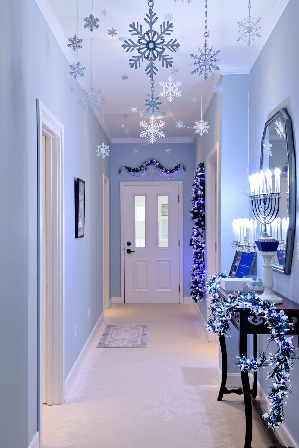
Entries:
[[103,174],[103,297],[109,308],[109,179]]

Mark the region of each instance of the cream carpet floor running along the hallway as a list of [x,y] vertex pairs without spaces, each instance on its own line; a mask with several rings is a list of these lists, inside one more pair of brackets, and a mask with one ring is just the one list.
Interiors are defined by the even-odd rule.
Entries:
[[[96,348],[107,324],[148,324],[147,348]],[[217,366],[193,305],[113,305],[64,404],[43,405],[43,446],[243,448],[243,397],[217,401]]]

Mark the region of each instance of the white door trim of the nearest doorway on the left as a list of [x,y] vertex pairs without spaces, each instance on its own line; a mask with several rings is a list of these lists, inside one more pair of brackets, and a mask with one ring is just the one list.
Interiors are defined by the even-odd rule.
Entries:
[[[56,117],[37,100],[38,144],[38,431],[42,436],[42,312],[43,312],[43,232],[51,229],[46,247],[47,286],[47,403],[61,404],[65,400],[64,381],[64,129]],[[46,170],[48,175],[47,223],[43,223],[43,135],[47,136]],[[51,201],[51,202],[49,202]]]

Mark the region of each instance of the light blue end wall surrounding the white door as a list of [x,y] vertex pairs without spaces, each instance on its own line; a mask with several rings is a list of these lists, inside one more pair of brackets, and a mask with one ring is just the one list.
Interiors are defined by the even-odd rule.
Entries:
[[[138,152],[134,153],[137,148]],[[166,148],[171,152],[167,153]],[[193,182],[193,144],[192,143],[155,143],[149,145],[141,144],[112,144],[110,153],[111,163],[111,281],[112,297],[121,295],[121,262],[120,262],[120,181],[150,181],[151,177],[132,177],[125,169],[118,174],[122,165],[136,168],[148,159],[156,159],[163,166],[173,168],[182,163],[186,171],[181,168],[178,174],[171,180],[183,181],[183,273],[184,273],[184,296],[190,296],[191,275],[191,246],[189,246],[192,223],[189,210],[192,207],[191,189]],[[160,181],[162,177],[154,177],[153,181]]]

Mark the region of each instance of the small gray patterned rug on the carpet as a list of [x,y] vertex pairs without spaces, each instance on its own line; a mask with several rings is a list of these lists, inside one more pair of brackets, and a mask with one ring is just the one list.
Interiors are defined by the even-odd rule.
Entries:
[[107,325],[97,348],[147,347],[148,325]]

